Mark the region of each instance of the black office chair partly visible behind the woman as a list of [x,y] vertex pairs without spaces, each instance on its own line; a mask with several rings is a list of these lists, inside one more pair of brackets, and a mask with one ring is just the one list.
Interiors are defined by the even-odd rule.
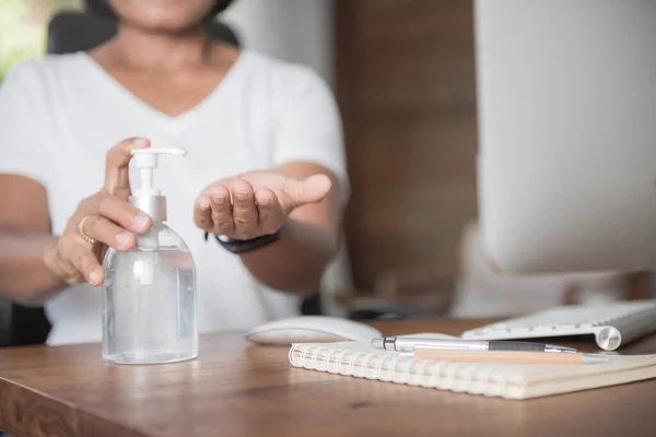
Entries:
[[[52,16],[48,23],[47,52],[85,51],[113,37],[116,22],[95,12],[62,11]],[[225,24],[212,21],[208,24],[208,33],[214,39],[239,45],[237,35]],[[44,308],[28,308],[0,299],[0,347],[44,343],[49,331]]]

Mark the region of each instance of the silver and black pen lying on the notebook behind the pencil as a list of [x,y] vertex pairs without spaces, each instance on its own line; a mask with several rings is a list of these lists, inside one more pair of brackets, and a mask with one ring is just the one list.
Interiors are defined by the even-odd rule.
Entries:
[[385,351],[412,352],[422,350],[442,351],[530,351],[530,352],[576,352],[573,347],[554,346],[552,344],[502,341],[502,340],[459,340],[459,339],[419,339],[405,336],[385,336],[372,340],[372,347]]

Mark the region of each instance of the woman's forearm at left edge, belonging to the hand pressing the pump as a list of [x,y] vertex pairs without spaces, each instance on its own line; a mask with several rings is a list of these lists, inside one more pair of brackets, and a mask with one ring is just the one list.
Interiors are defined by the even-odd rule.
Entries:
[[0,227],[0,296],[37,305],[66,284],[44,262],[44,251],[57,237]]

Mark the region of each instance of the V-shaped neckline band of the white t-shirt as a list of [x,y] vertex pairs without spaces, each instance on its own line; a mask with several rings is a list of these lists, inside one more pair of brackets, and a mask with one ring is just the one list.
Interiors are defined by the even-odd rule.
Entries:
[[80,58],[89,64],[97,74],[97,76],[112,86],[114,90],[118,92],[118,94],[129,101],[137,109],[141,110],[145,115],[154,118],[163,128],[167,130],[181,131],[189,126],[196,115],[198,115],[206,106],[208,106],[214,98],[216,98],[223,90],[230,84],[232,78],[236,74],[235,71],[239,69],[239,66],[244,63],[244,59],[246,57],[246,52],[242,51],[235,62],[230,67],[221,82],[216,84],[214,90],[210,92],[202,101],[196,104],[194,107],[187,109],[186,111],[177,115],[169,116],[141,98],[134,95],[130,90],[124,86],[120,82],[118,82],[112,74],[107,72],[99,63],[97,63],[93,58],[91,58],[86,52],[80,51]]

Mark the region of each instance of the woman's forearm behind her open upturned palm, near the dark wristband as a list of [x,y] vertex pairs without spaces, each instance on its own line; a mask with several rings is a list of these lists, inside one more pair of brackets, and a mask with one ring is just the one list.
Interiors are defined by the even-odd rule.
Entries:
[[278,241],[241,258],[250,273],[265,285],[306,295],[318,290],[338,246],[333,232],[290,218]]

